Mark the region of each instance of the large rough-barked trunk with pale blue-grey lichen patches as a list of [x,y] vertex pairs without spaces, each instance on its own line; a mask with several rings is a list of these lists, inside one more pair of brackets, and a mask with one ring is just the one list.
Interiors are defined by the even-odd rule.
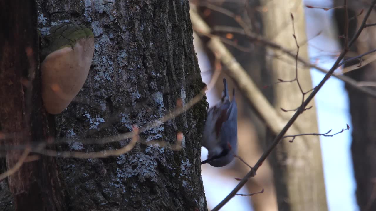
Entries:
[[[121,148],[129,140],[105,145],[80,140],[105,139],[131,131],[132,125],[150,124],[205,86],[193,47],[188,0],[36,3],[39,28],[66,19],[92,28],[95,36],[88,79],[76,100],[55,116],[56,136],[71,140],[59,150]],[[200,168],[205,117],[203,99],[177,118],[140,134],[148,141],[174,144],[182,132],[180,151],[138,143],[118,157],[56,159],[67,196],[64,203],[74,211],[207,210]],[[3,191],[6,188],[0,189],[0,196]],[[12,203],[11,197],[7,200],[4,203]]]

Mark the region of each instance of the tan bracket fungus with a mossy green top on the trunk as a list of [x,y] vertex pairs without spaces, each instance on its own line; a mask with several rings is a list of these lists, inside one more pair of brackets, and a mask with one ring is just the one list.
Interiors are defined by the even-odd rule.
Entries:
[[94,34],[84,25],[59,23],[47,29],[41,51],[42,99],[47,112],[61,113],[88,77]]

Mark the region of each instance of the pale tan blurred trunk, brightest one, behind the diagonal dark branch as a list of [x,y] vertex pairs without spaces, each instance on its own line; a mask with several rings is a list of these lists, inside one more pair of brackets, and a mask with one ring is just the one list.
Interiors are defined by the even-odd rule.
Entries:
[[[262,0],[264,36],[284,48],[296,52],[296,41],[293,34],[291,14],[297,42],[300,45],[299,56],[309,60],[307,37],[305,33],[304,3],[297,1]],[[273,72],[273,81],[293,80],[296,76],[295,60],[281,52],[267,50],[267,67]],[[298,79],[303,92],[312,89],[309,68],[298,66]],[[303,94],[296,81],[273,85],[274,106],[286,121],[294,112],[285,110],[296,109],[302,104]],[[317,118],[314,102],[295,122],[299,133],[317,133]],[[274,134],[271,134],[274,136]],[[267,139],[269,142],[273,137]],[[321,160],[320,139],[318,136],[296,137],[293,143],[282,140],[270,159],[274,170],[274,182],[277,190],[278,208],[280,211],[324,211],[327,210],[325,183]]]

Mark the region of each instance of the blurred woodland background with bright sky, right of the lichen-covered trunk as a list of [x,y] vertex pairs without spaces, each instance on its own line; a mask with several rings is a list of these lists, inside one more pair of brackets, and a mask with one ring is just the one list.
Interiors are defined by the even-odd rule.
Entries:
[[[363,20],[370,2],[348,1],[350,38]],[[191,10],[197,12],[212,30],[210,35],[203,33],[193,20],[194,45],[203,81],[208,84],[214,70],[221,69],[220,80],[207,93],[209,105],[214,105],[220,98],[223,89],[221,78],[231,78],[226,75],[226,66],[218,62],[218,55],[209,47],[213,36],[219,36],[276,112],[287,121],[294,112],[279,108],[290,110],[299,107],[303,94],[296,81],[274,83],[278,79],[294,79],[294,58],[263,42],[256,42],[244,33],[235,33],[235,29],[261,36],[294,54],[297,47],[292,35],[295,33],[300,46],[299,56],[329,70],[343,46],[343,4],[343,0],[192,0]],[[294,28],[290,12],[294,16]],[[367,23],[376,23],[375,12]],[[364,30],[346,58],[375,48],[373,30],[373,27]],[[376,210],[376,190],[373,187],[376,175],[373,165],[376,161],[376,121],[373,120],[376,104],[374,97],[356,87],[376,92],[374,84],[364,83],[376,80],[372,57],[373,54],[369,54],[337,69],[335,72],[340,78],[331,77],[327,81],[314,98],[314,104],[310,104],[312,109],[306,110],[295,124],[299,133],[332,130],[333,134],[346,128],[346,124],[350,130],[333,137],[297,137],[292,143],[283,140],[255,178],[240,190],[240,193],[247,194],[264,188],[264,193],[252,197],[235,196],[221,210]],[[302,63],[298,63],[298,69],[298,79],[304,91],[312,89],[324,76],[322,71]],[[350,86],[349,82],[345,84],[344,80],[353,82],[353,85]],[[232,83],[229,89],[233,86],[236,88]],[[236,100],[239,107],[238,155],[253,166],[276,133],[260,118],[259,111],[249,105],[244,93],[238,94]],[[207,150],[202,148],[201,159],[205,160],[206,156]],[[202,179],[209,210],[238,184],[235,178],[243,178],[249,170],[239,160],[234,160],[225,168],[203,165]]]

